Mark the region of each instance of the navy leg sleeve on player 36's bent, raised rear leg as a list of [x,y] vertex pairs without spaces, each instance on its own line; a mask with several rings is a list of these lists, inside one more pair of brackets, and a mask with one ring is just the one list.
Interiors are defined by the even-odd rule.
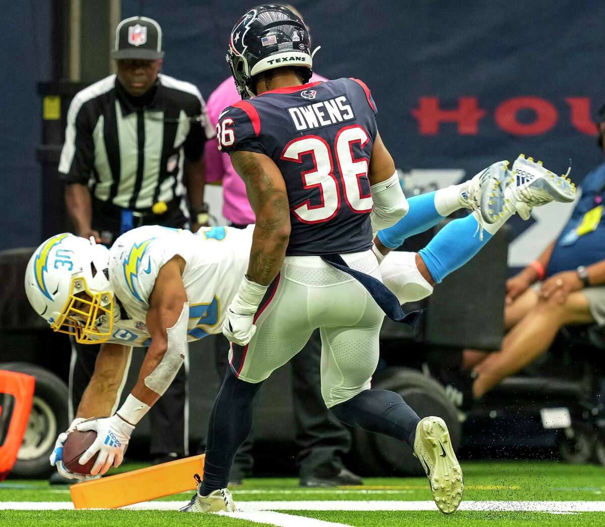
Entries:
[[345,424],[405,441],[414,448],[420,418],[399,393],[364,390],[352,399],[333,406],[332,412]]

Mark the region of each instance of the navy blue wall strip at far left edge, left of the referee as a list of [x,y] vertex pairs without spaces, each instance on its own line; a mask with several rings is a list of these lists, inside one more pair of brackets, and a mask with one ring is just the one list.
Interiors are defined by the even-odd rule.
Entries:
[[50,0],[2,2],[0,16],[0,249],[37,245],[41,231],[41,100],[50,76]]

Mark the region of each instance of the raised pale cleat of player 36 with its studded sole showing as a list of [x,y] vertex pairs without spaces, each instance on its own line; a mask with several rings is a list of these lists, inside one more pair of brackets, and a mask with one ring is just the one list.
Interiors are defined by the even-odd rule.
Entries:
[[443,514],[456,511],[462,501],[462,469],[450,442],[450,432],[440,417],[420,419],[414,439],[414,456],[427,473],[433,499]]

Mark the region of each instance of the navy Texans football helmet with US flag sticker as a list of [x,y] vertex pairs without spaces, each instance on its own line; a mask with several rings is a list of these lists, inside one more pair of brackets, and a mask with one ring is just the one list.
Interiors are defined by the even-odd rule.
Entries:
[[242,99],[254,97],[252,79],[263,71],[296,66],[309,82],[313,68],[309,31],[285,5],[260,5],[241,17],[231,31],[227,63]]

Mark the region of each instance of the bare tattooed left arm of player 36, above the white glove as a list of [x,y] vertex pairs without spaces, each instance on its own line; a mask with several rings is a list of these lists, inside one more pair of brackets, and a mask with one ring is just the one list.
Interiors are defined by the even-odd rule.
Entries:
[[232,152],[231,163],[246,184],[256,216],[247,278],[269,285],[279,273],[290,238],[286,183],[273,161],[255,152]]

